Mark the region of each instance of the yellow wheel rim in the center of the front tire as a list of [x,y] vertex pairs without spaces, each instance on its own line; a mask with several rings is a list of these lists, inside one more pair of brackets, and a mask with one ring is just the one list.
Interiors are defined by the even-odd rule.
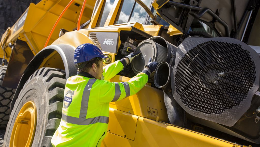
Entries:
[[31,146],[37,121],[36,105],[28,101],[23,105],[12,130],[10,146]]

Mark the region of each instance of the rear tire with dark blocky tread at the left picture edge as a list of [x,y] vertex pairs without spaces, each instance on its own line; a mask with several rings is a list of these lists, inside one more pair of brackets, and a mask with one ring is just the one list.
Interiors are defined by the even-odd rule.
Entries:
[[5,129],[9,120],[10,104],[14,97],[15,89],[1,86],[7,66],[0,67],[0,129]]

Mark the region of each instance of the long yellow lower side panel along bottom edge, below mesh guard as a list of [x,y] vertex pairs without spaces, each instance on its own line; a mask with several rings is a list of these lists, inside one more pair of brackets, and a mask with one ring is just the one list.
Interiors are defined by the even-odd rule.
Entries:
[[136,126],[134,146],[234,147],[236,144],[140,117]]

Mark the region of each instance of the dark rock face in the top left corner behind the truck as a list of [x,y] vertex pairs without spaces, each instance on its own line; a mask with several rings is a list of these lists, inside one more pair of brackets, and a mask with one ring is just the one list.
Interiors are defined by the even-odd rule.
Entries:
[[8,27],[12,27],[30,3],[40,0],[0,0],[0,39]]

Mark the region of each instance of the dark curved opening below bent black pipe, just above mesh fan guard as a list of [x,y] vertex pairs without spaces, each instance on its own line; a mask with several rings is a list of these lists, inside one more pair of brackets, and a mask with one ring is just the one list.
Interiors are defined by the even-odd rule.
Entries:
[[218,37],[218,34],[216,31],[214,31],[211,27],[209,27],[207,24],[194,19],[193,22],[191,23],[191,27],[188,30],[188,34],[191,33],[191,31],[197,31],[197,32],[205,32],[212,37]]

